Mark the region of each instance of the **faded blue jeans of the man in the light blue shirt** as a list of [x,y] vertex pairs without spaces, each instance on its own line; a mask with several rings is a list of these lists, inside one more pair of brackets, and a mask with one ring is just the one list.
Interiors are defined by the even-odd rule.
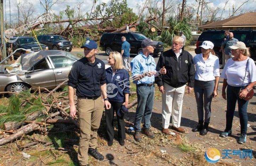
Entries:
[[144,117],[143,128],[150,128],[151,126],[150,117],[154,103],[155,85],[151,87],[136,85],[136,92],[138,96],[138,106],[136,108],[134,130],[135,132],[139,132],[141,130],[140,124],[142,117]]

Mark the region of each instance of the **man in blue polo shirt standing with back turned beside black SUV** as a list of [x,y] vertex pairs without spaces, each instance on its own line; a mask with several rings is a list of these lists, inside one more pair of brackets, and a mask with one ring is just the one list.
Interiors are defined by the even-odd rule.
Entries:
[[128,41],[126,41],[126,38],[124,36],[122,36],[122,49],[121,49],[121,56],[123,58],[123,65],[124,65],[124,69],[126,69],[127,71],[131,71],[131,66],[130,66],[130,62],[129,62],[129,58],[130,58],[130,43],[128,43]]

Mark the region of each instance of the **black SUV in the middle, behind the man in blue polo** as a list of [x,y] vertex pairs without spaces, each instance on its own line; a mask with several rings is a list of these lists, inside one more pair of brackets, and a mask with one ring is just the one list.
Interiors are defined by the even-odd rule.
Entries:
[[[122,48],[122,40],[121,37],[126,37],[126,41],[130,43],[131,54],[139,54],[142,50],[141,42],[144,39],[147,39],[146,36],[136,32],[128,32],[128,33],[105,33],[101,36],[100,39],[100,48],[106,52],[106,55],[109,55],[111,51],[121,52]],[[152,55],[157,56],[160,55],[164,51],[163,43],[161,41],[155,47]]]

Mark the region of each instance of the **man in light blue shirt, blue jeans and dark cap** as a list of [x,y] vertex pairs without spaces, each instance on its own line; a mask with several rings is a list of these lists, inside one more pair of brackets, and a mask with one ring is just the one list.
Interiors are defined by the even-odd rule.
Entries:
[[155,77],[166,73],[164,66],[158,72],[156,71],[155,59],[149,55],[154,52],[157,43],[158,41],[151,39],[143,40],[141,43],[142,51],[131,62],[133,83],[136,84],[138,96],[138,106],[134,120],[134,139],[139,142],[141,141],[140,124],[142,117],[144,117],[142,132],[149,138],[155,138],[155,134],[150,130],[150,117],[155,94]]

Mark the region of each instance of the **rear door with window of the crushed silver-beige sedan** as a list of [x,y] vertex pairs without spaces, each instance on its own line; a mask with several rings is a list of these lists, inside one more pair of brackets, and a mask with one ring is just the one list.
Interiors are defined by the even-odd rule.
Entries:
[[[68,78],[69,71],[73,63],[76,61],[66,56],[49,56],[53,71],[56,78],[56,84],[60,84]],[[67,84],[67,83],[66,83]]]

